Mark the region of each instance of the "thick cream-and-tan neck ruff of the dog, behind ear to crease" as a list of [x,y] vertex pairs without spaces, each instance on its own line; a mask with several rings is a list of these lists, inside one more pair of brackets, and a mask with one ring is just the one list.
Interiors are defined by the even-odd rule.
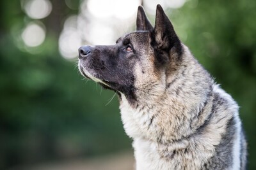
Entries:
[[131,138],[170,143],[189,138],[205,124],[211,113],[213,81],[186,46],[184,54],[178,69],[162,71],[157,83],[136,88],[136,103],[121,95],[122,121]]

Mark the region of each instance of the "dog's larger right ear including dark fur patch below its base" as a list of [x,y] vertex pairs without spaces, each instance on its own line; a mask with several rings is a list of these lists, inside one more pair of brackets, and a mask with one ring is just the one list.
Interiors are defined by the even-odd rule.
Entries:
[[157,53],[156,56],[159,64],[168,63],[171,50],[174,50],[178,56],[182,54],[180,39],[160,4],[157,4],[156,25],[152,31],[152,39],[151,45]]

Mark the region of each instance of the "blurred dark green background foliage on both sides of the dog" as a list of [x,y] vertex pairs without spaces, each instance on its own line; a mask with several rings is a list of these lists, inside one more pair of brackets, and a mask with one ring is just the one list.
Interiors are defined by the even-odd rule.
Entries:
[[[108,104],[114,93],[84,80],[76,56],[61,53],[65,20],[71,15],[85,16],[84,22],[93,18],[83,14],[89,2],[47,1],[51,11],[43,18],[31,17],[26,6],[22,7],[29,2],[0,1],[0,169],[131,150],[117,97]],[[256,1],[179,2],[183,4],[169,3],[165,11],[183,43],[241,106],[248,169],[256,169]],[[148,6],[148,11],[153,5],[139,3]],[[134,30],[135,15],[128,31]],[[148,13],[148,17],[154,23],[154,15]],[[31,22],[45,31],[39,45],[35,43],[40,37],[32,45],[33,37],[26,41],[24,28]],[[113,24],[116,28],[120,23]],[[81,37],[77,48],[95,42]],[[68,41],[72,43],[72,39]]]

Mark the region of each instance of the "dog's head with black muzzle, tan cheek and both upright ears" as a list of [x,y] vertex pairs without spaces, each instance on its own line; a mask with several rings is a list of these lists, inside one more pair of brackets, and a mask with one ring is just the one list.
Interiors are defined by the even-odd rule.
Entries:
[[182,44],[157,5],[156,25],[152,27],[139,6],[137,31],[122,36],[111,46],[79,48],[79,70],[83,76],[107,89],[124,94],[130,103],[140,93],[159,94],[166,86],[166,74],[176,69],[182,55]]

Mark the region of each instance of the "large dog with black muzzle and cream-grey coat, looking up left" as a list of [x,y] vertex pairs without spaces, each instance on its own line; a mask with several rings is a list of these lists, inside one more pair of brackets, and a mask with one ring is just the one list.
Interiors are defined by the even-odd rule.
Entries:
[[136,169],[246,169],[236,101],[193,57],[158,4],[152,27],[142,6],[137,30],[110,46],[79,48],[79,71],[115,91]]

